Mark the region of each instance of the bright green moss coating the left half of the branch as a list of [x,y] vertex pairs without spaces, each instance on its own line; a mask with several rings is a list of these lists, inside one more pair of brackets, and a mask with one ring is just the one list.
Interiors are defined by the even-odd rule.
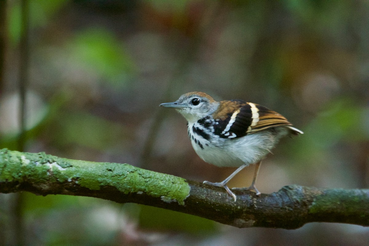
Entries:
[[[129,164],[70,160],[45,153],[0,150],[0,182],[43,184],[45,191],[55,183],[72,182],[89,190],[114,187],[122,194],[146,194],[180,205],[190,193],[182,178],[148,171]],[[46,185],[46,186],[45,186]],[[39,186],[41,187],[41,186]]]

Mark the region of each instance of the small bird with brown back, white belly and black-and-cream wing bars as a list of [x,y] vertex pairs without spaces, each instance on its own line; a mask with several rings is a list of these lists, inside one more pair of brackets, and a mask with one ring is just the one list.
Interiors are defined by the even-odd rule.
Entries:
[[303,134],[281,114],[259,104],[243,100],[216,101],[204,92],[183,94],[172,103],[159,106],[175,108],[187,120],[187,133],[192,147],[205,162],[218,167],[238,167],[225,180],[204,184],[223,187],[237,200],[227,183],[239,171],[255,164],[251,186],[242,190],[260,191],[256,188],[261,161],[281,138]]

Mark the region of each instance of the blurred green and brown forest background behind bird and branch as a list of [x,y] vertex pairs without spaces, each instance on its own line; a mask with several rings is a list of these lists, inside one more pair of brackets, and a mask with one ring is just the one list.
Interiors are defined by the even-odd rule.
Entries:
[[[234,169],[204,163],[184,118],[158,107],[204,91],[269,107],[305,132],[283,139],[263,162],[261,192],[289,184],[368,188],[368,1],[25,2],[28,52],[21,1],[0,6],[0,148],[221,181]],[[246,168],[230,186],[249,186],[253,171]],[[137,204],[0,194],[0,245],[22,242],[368,245],[369,229],[238,229]]]

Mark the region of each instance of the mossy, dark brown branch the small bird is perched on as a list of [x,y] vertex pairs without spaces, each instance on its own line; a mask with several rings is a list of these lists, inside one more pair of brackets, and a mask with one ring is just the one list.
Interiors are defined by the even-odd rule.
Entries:
[[0,150],[0,193],[29,191],[134,202],[237,227],[295,229],[308,222],[369,226],[369,190],[286,186],[259,197],[128,164],[69,160],[45,153]]

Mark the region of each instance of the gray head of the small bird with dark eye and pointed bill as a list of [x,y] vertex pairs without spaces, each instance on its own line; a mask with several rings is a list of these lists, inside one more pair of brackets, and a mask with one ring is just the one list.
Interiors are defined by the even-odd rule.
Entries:
[[219,102],[213,98],[200,96],[199,94],[184,94],[173,103],[162,103],[160,106],[175,108],[188,122],[196,122],[217,109]]

